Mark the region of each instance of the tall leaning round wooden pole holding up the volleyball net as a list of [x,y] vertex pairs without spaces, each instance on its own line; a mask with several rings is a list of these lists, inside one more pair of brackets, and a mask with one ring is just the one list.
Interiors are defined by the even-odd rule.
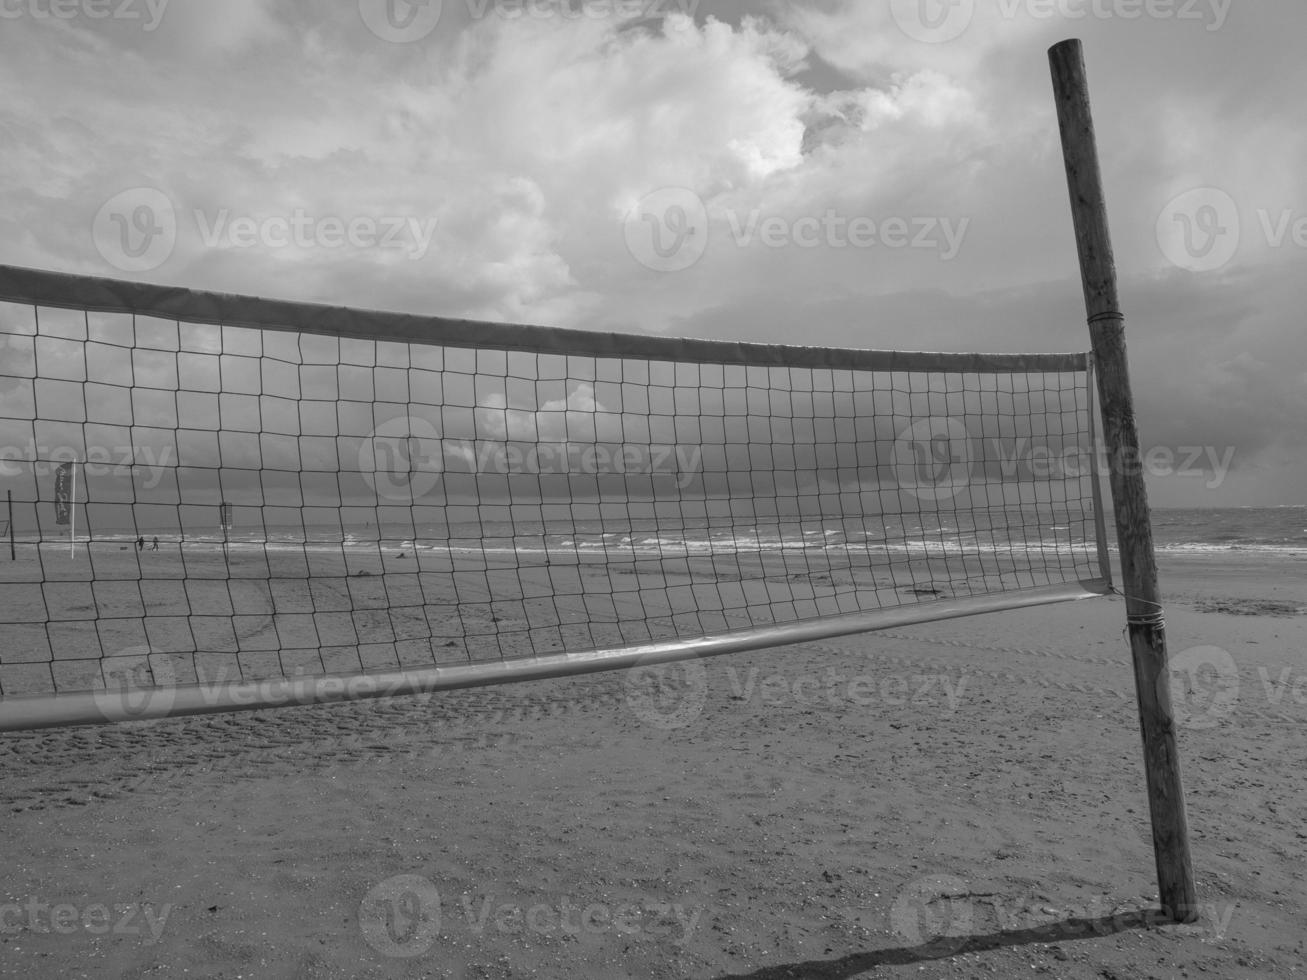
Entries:
[[1094,120],[1089,106],[1085,55],[1080,41],[1048,51],[1057,124],[1061,129],[1067,186],[1076,222],[1076,243],[1085,285],[1085,310],[1093,342],[1103,444],[1116,512],[1116,540],[1125,592],[1125,619],[1134,660],[1144,771],[1153,821],[1153,853],[1166,913],[1178,923],[1199,917],[1189,860],[1188,819],[1180,784],[1180,757],[1171,712],[1166,665],[1166,632],[1157,587],[1157,558],[1149,523],[1148,495],[1140,465],[1138,433],[1125,361],[1125,318],[1116,295],[1116,263],[1107,229]]

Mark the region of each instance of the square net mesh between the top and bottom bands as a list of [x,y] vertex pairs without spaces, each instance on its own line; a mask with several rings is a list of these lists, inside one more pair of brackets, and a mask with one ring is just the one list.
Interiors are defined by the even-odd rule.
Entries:
[[0,303],[4,695],[529,659],[1106,578],[1081,355],[552,353],[91,306]]

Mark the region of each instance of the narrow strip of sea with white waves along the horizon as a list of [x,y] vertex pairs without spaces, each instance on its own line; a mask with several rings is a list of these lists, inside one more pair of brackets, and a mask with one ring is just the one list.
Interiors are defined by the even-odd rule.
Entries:
[[[256,515],[256,508],[246,508]],[[465,514],[468,508],[460,508]],[[502,510],[502,508],[497,508]],[[284,511],[282,511],[284,512]],[[356,511],[357,512],[357,511]],[[46,528],[46,544],[67,541],[67,529],[54,534]],[[1026,507],[988,511],[942,511],[938,514],[865,515],[863,517],[672,517],[663,520],[603,520],[563,517],[553,521],[503,520],[437,523],[365,521],[350,525],[251,525],[238,521],[226,534],[218,528],[188,529],[176,525],[139,528],[78,528],[78,540],[132,542],[144,534],[148,544],[158,534],[162,544],[186,541],[195,546],[222,545],[248,549],[397,547],[418,551],[477,554],[550,554],[616,558],[635,555],[714,555],[769,551],[842,551],[949,557],[1004,553],[1074,553],[1097,550],[1094,529],[1078,512],[1064,508]],[[1286,507],[1234,507],[1153,510],[1153,536],[1159,553],[1219,555],[1231,551],[1307,557],[1307,504]],[[35,534],[18,533],[20,542]],[[1107,544],[1115,550],[1115,531],[1108,516]]]

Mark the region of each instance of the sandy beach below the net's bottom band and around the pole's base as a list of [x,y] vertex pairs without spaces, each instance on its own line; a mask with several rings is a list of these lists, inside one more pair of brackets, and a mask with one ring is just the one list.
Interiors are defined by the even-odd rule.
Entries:
[[1116,598],[0,741],[0,976],[1307,970],[1307,562],[1162,557],[1201,913]]

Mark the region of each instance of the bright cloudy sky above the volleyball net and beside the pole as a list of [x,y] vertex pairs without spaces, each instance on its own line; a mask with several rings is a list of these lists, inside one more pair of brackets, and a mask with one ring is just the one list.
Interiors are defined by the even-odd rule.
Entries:
[[1046,56],[1067,37],[1154,503],[1302,503],[1295,0],[0,0],[0,261],[596,331],[1085,349]]

